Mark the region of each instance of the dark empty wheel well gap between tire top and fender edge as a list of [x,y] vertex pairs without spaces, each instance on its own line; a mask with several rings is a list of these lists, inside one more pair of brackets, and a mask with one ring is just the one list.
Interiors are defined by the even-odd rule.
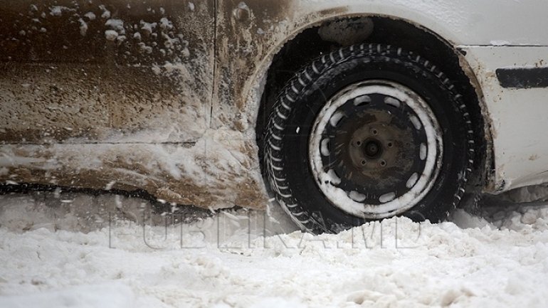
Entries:
[[468,111],[475,124],[476,144],[481,148],[476,152],[475,181],[470,184],[485,185],[486,149],[484,119],[478,101],[478,94],[470,79],[460,66],[455,49],[436,34],[407,21],[384,16],[343,17],[325,21],[300,32],[274,56],[268,68],[266,85],[261,97],[255,132],[259,145],[259,159],[263,174],[263,136],[270,112],[278,93],[303,66],[313,59],[356,43],[383,43],[398,46],[428,58],[452,80],[456,90],[463,95]]

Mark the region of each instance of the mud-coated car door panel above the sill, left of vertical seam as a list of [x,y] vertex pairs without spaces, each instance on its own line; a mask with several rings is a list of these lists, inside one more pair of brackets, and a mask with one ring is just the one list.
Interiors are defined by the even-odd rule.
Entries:
[[207,127],[214,0],[9,0],[4,144],[194,142]]

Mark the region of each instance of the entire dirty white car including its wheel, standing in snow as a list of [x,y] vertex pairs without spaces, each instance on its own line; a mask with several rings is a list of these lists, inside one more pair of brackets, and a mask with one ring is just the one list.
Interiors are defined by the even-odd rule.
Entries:
[[4,1],[0,181],[443,221],[548,181],[534,2]]

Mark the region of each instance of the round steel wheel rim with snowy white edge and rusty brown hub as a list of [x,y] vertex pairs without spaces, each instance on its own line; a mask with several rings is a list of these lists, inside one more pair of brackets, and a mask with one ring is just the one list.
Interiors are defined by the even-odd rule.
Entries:
[[[372,123],[382,124],[376,134]],[[396,147],[392,140],[388,147],[396,135],[405,142],[397,140]],[[443,142],[422,97],[398,83],[369,80],[339,91],[322,107],[308,152],[312,176],[330,203],[353,216],[379,219],[409,210],[431,191],[441,169]],[[369,184],[371,179],[379,183]]]

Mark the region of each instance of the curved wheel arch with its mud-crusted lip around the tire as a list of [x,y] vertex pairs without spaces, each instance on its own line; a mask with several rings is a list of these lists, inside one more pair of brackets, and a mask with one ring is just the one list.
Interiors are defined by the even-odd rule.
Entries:
[[286,36],[285,40],[277,46],[273,46],[268,56],[257,66],[251,80],[261,80],[260,85],[255,86],[254,89],[248,88],[244,93],[247,94],[248,102],[258,102],[258,104],[253,104],[255,109],[253,113],[256,116],[255,136],[259,149],[258,158],[261,173],[265,174],[261,149],[264,127],[268,122],[271,107],[279,90],[302,65],[323,53],[329,53],[332,48],[344,46],[325,41],[325,38],[318,34],[318,30],[333,23],[349,20],[357,23],[373,22],[371,35],[364,41],[355,41],[354,43],[385,43],[416,52],[433,60],[459,87],[458,90],[463,93],[468,110],[472,113],[475,123],[478,124],[476,142],[483,145],[475,159],[477,179],[470,183],[481,186],[481,188],[494,185],[492,182],[494,156],[490,115],[483,100],[483,91],[478,78],[473,73],[468,61],[465,60],[463,51],[458,50],[454,43],[419,23],[406,18],[379,14],[341,14],[307,23]]

